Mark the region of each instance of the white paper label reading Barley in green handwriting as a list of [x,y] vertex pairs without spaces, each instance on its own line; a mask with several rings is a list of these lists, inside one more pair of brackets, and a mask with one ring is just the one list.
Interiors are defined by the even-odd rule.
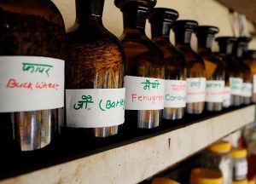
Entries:
[[125,88],[66,89],[67,127],[97,128],[125,122]]

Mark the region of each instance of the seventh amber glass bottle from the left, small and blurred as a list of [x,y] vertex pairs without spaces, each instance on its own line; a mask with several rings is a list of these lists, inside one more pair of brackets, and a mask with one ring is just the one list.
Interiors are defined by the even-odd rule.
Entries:
[[241,105],[242,72],[237,60],[232,58],[232,49],[236,37],[217,37],[219,52],[224,54],[225,85],[230,86],[231,106]]

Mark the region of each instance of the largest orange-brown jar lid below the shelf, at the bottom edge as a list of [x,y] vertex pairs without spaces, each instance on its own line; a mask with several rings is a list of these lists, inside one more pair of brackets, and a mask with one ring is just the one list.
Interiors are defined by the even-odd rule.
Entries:
[[195,184],[223,184],[221,172],[204,168],[192,170],[190,181]]

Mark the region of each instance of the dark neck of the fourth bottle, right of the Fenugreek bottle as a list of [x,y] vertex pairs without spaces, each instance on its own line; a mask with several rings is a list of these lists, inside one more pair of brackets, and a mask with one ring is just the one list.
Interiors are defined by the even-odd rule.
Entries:
[[151,37],[152,39],[164,38],[170,42],[171,22],[151,23]]

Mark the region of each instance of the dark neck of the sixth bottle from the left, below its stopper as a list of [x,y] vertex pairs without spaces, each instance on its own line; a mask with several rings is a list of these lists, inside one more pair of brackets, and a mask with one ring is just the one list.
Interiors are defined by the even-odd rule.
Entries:
[[206,34],[206,35],[199,35],[197,37],[197,45],[198,45],[198,50],[199,52],[207,51],[207,52],[212,52],[212,40],[213,40],[213,35],[212,34]]

